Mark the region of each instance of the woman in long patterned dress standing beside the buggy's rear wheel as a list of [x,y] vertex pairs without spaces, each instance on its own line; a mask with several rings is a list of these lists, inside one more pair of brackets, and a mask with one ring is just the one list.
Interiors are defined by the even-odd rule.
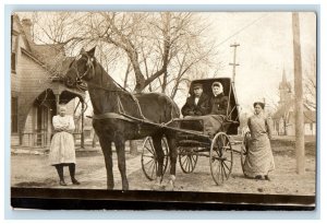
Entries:
[[244,175],[250,178],[270,180],[268,173],[275,169],[270,148],[271,120],[264,115],[264,103],[256,102],[253,106],[254,115],[247,120],[251,140],[247,142]]

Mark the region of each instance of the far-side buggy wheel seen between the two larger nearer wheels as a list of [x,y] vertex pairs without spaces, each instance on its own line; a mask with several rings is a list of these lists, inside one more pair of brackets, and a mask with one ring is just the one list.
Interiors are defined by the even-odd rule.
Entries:
[[197,163],[197,154],[194,153],[194,148],[180,148],[179,161],[184,174],[194,172]]

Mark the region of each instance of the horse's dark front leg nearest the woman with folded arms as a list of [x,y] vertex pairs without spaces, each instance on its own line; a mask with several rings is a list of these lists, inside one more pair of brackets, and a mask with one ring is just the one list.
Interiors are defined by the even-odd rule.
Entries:
[[112,149],[111,141],[105,135],[99,137],[99,142],[105,156],[106,169],[107,169],[107,189],[112,190],[114,186],[113,173],[112,173]]

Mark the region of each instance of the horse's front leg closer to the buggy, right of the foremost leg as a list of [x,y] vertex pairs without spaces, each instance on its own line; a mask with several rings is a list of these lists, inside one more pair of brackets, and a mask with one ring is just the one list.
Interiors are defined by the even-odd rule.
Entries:
[[126,163],[125,163],[125,141],[123,139],[114,140],[117,157],[118,157],[118,168],[121,175],[122,189],[129,190],[129,180],[126,177]]

